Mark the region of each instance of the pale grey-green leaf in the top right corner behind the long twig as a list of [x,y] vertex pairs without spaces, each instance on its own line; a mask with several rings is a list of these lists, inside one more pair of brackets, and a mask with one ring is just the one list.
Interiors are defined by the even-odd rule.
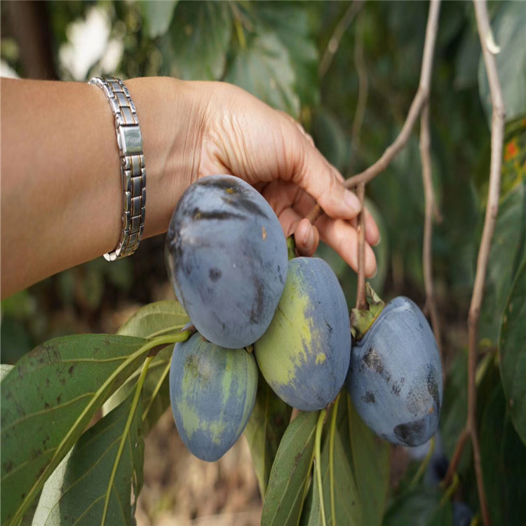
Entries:
[[[524,28],[526,9],[522,2],[506,2],[493,24],[495,43],[500,53],[495,55],[497,70],[506,107],[506,121],[523,116],[526,109],[526,46]],[[492,106],[490,86],[481,56],[478,64],[478,90],[488,124],[491,123]]]

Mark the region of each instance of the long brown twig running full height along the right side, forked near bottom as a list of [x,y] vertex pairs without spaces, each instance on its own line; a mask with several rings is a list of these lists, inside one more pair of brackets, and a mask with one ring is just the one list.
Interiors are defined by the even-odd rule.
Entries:
[[478,443],[478,433],[476,425],[476,367],[478,358],[478,320],[480,317],[480,306],[484,295],[484,283],[486,279],[487,261],[490,257],[490,248],[492,243],[495,222],[499,211],[499,196],[501,183],[501,163],[502,149],[504,142],[504,100],[499,82],[497,71],[497,62],[494,53],[498,50],[495,46],[490,27],[490,20],[487,15],[487,6],[485,0],[473,0],[475,4],[475,14],[477,19],[478,35],[480,37],[480,46],[483,50],[484,65],[486,75],[490,84],[490,94],[492,100],[492,131],[491,131],[491,160],[490,160],[490,188],[487,194],[486,214],[484,218],[483,234],[480,240],[480,248],[477,257],[477,269],[475,274],[475,283],[473,285],[473,295],[471,296],[471,305],[468,314],[468,417],[466,428],[461,433],[455,457],[452,459],[450,468],[447,472],[447,480],[450,480],[454,473],[460,453],[466,438],[466,433],[471,436],[473,445],[473,464],[477,479],[478,499],[480,501],[480,511],[484,525],[490,524],[490,512],[487,507],[487,500],[484,491],[484,479],[482,466],[480,463],[480,446]]

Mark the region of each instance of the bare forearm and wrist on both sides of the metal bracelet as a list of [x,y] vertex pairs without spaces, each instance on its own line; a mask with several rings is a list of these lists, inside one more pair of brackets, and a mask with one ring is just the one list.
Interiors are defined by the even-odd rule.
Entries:
[[[122,187],[114,118],[86,83],[1,81],[1,294],[113,250]],[[144,237],[166,231],[198,164],[194,87],[126,81],[144,142]]]

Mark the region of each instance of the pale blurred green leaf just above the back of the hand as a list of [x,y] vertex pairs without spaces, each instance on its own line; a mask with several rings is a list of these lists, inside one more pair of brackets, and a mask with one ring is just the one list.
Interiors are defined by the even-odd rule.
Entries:
[[271,107],[292,116],[299,114],[290,56],[273,32],[248,39],[246,47],[238,49],[225,80],[241,86]]

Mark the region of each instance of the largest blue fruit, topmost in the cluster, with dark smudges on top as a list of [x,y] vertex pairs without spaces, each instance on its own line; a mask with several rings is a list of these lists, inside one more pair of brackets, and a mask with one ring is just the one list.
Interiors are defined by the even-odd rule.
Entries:
[[177,297],[201,335],[236,349],[264,333],[285,286],[287,245],[250,184],[230,175],[192,184],[173,213],[166,252]]

